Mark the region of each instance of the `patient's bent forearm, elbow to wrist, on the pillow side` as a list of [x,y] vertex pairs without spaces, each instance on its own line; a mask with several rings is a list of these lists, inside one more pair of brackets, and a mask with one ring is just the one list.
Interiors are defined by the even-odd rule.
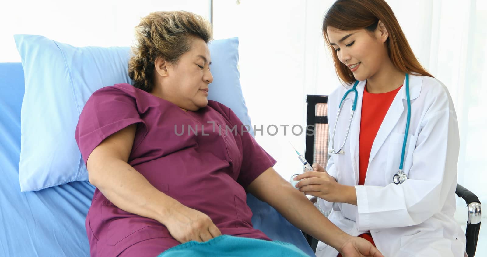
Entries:
[[157,190],[147,179],[128,163],[116,159],[104,159],[94,165],[90,182],[118,208],[164,224],[171,207],[178,201]]

